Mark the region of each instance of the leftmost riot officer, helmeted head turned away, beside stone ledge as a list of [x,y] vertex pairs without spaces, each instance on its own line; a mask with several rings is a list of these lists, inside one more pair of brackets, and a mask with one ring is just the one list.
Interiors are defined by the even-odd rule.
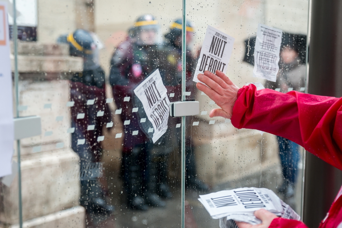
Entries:
[[[102,146],[97,139],[103,135],[103,126],[111,121],[106,104],[105,72],[98,63],[97,46],[90,32],[77,29],[60,36],[57,43],[68,43],[70,55],[83,58],[83,71],[74,73],[70,79],[70,100],[75,102],[71,107],[71,128],[74,128],[71,147],[80,157],[80,204],[88,214],[109,215],[114,212],[114,206],[106,202],[105,178],[83,175],[89,169],[102,167],[97,163],[102,155]],[[94,100],[94,103],[87,104],[88,100]],[[84,113],[83,118],[79,118],[80,113]]]

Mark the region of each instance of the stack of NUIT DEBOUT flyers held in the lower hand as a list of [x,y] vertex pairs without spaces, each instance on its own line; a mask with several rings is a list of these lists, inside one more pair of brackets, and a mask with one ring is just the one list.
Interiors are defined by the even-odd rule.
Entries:
[[254,216],[254,211],[262,208],[279,217],[300,220],[300,216],[289,205],[267,188],[237,188],[199,197],[198,200],[210,216],[220,219],[221,228],[236,226],[234,221],[261,224],[261,220]]

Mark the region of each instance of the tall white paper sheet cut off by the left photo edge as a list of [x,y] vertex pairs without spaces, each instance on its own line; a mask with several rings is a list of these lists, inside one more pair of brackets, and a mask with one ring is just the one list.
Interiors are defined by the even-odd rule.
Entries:
[[7,4],[0,1],[0,177],[12,173],[13,93]]

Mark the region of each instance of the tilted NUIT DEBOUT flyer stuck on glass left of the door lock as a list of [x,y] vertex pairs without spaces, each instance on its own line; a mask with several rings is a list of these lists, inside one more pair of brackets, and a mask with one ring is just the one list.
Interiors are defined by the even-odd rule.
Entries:
[[170,112],[167,89],[161,80],[159,69],[155,70],[134,89],[134,94],[144,106],[148,120],[154,128],[153,143],[166,132]]

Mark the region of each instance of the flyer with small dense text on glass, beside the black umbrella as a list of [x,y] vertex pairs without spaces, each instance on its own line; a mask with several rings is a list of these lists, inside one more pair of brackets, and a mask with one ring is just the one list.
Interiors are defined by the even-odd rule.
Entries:
[[273,82],[277,80],[281,35],[282,30],[259,23],[254,48],[253,77]]

